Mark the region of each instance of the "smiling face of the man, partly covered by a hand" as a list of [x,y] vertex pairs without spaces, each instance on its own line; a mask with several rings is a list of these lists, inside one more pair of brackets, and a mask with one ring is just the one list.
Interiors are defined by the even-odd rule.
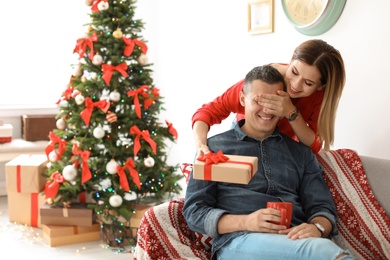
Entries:
[[254,80],[252,90],[249,93],[241,92],[240,102],[245,107],[245,124],[241,129],[246,134],[262,140],[274,132],[280,118],[265,113],[263,107],[255,101],[255,97],[260,94],[277,94],[278,90],[283,90],[282,82],[270,85],[260,80]]

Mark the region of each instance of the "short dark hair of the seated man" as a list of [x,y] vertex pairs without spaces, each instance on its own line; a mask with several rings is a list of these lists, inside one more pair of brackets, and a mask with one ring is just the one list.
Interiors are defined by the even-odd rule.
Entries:
[[283,89],[286,89],[283,75],[271,65],[263,65],[254,67],[246,74],[244,79],[244,93],[248,93],[252,88],[252,82],[254,80],[261,80],[267,84],[283,83]]

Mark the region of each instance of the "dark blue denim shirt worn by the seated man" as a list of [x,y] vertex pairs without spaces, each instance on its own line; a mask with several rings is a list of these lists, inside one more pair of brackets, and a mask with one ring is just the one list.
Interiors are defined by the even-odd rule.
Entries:
[[241,131],[243,123],[210,137],[207,145],[211,151],[221,150],[225,155],[257,156],[257,172],[247,185],[195,180],[191,173],[183,208],[189,228],[213,238],[214,255],[225,243],[246,232],[219,235],[217,225],[223,214],[249,214],[265,208],[267,201],[290,201],[291,226],[321,215],[333,225],[331,236],[336,235],[336,207],[310,148],[278,129],[262,141],[254,139]]

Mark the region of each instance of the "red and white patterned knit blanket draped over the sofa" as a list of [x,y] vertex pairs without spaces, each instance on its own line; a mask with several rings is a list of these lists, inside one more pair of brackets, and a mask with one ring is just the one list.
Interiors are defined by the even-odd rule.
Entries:
[[[390,259],[390,219],[368,184],[352,150],[321,151],[317,156],[339,215],[334,241],[355,259]],[[189,165],[182,169],[186,174]],[[192,232],[182,215],[184,199],[149,209],[138,230],[135,260],[210,259],[211,239]]]

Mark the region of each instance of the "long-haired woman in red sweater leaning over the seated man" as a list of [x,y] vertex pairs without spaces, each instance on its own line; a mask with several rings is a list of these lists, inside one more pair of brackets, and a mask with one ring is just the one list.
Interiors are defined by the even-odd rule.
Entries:
[[[265,112],[281,118],[279,130],[309,146],[318,153],[324,145],[330,149],[334,141],[337,106],[345,84],[345,68],[341,54],[323,40],[308,40],[294,51],[290,64],[271,64],[284,76],[287,89],[278,94],[256,98]],[[198,155],[209,152],[207,132],[230,113],[243,118],[239,100],[243,80],[230,87],[214,101],[204,104],[192,117]]]

